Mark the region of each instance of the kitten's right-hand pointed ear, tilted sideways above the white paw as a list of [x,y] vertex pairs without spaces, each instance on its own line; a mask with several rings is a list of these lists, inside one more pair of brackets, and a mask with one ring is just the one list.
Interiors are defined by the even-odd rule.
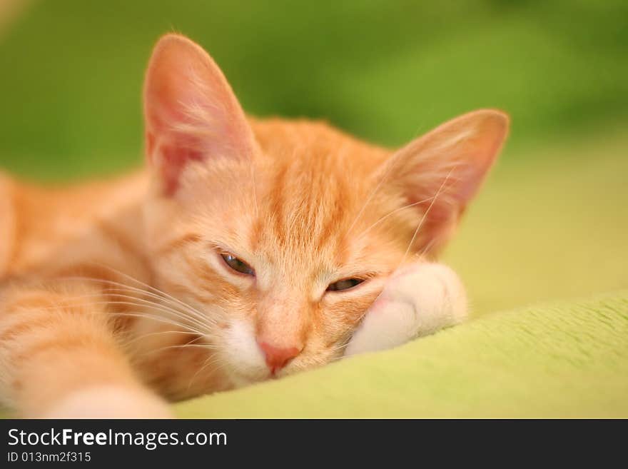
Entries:
[[502,111],[482,109],[454,118],[397,151],[380,177],[419,211],[412,248],[434,253],[450,237],[508,132]]

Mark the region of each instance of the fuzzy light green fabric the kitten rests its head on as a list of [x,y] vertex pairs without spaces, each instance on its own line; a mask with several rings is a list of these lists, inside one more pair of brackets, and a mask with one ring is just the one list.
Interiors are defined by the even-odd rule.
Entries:
[[628,291],[492,313],[176,406],[182,418],[628,417]]

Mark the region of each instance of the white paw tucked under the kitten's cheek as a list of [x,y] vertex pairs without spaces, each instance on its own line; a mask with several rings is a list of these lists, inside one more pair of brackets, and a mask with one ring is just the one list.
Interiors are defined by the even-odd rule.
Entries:
[[466,316],[465,288],[452,269],[440,263],[412,263],[388,279],[345,355],[393,348],[460,323]]

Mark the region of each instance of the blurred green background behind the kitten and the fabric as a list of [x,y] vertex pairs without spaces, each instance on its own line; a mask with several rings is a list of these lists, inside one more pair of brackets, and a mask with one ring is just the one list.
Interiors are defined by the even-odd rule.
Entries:
[[477,313],[628,287],[625,0],[34,0],[3,28],[8,171],[141,164],[144,67],[180,31],[259,116],[397,146],[465,111],[508,111],[510,141],[445,256]]

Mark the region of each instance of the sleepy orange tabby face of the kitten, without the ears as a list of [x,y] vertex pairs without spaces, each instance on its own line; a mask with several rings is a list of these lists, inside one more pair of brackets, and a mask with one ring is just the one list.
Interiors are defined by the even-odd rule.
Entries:
[[[321,123],[254,128],[253,166],[193,163],[152,208],[168,213],[153,221],[159,287],[215,321],[206,340],[235,384],[342,355],[417,224],[393,213],[401,194],[369,200],[388,152]],[[263,343],[294,356],[273,373]]]

